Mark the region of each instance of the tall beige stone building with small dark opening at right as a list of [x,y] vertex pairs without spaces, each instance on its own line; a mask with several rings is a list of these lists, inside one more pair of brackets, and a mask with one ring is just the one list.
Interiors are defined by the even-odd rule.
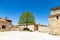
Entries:
[[52,8],[48,18],[51,34],[60,34],[60,6]]

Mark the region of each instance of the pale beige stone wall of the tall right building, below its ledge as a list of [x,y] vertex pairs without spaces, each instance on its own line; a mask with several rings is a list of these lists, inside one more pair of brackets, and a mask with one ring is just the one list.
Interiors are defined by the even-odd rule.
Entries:
[[49,26],[51,34],[60,34],[60,17],[59,19],[56,17],[49,18]]

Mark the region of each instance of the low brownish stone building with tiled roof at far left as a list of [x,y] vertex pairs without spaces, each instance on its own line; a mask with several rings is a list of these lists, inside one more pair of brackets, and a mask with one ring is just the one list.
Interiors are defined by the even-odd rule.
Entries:
[[0,18],[0,31],[9,31],[12,27],[12,21],[7,18]]

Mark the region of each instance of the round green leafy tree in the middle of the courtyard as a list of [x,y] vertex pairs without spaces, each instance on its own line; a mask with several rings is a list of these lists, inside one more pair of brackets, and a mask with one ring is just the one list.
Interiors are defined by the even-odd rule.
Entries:
[[35,24],[35,18],[31,12],[23,12],[22,15],[19,17],[18,25],[29,25]]

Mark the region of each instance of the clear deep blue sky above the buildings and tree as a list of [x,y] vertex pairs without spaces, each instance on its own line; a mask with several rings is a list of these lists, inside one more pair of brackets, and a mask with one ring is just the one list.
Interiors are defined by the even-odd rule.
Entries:
[[37,24],[48,25],[50,9],[60,6],[60,0],[0,0],[0,17],[8,17],[17,25],[22,12],[32,12]]

